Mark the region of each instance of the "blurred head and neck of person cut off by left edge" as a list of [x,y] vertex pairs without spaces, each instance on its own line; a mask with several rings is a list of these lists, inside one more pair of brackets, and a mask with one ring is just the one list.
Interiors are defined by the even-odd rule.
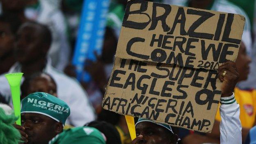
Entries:
[[11,32],[10,25],[0,22],[0,74],[9,71],[14,64],[14,34]]

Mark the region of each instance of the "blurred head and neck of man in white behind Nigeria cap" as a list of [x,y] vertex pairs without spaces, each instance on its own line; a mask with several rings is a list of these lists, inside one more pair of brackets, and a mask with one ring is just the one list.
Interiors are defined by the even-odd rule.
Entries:
[[42,71],[45,67],[50,43],[43,41],[43,30],[39,24],[24,23],[17,32],[15,54],[24,75]]

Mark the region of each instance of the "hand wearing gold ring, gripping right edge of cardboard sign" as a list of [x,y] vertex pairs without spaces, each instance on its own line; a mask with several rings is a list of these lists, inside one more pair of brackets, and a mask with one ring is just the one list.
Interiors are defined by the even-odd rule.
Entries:
[[218,78],[222,82],[222,97],[231,96],[238,82],[239,74],[235,62],[225,62],[218,69]]

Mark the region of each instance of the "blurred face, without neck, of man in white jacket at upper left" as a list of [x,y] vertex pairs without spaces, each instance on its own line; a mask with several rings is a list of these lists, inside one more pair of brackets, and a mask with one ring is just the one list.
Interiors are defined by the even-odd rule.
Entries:
[[26,64],[45,55],[43,54],[41,35],[42,30],[38,25],[26,23],[20,27],[15,43],[15,54],[18,62]]

